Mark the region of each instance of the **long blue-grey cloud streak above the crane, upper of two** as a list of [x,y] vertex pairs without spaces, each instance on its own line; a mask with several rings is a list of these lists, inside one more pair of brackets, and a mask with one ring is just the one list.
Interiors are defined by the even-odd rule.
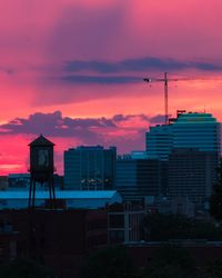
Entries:
[[206,71],[221,71],[222,67],[216,63],[201,62],[201,61],[179,61],[173,59],[161,59],[155,57],[143,57],[138,59],[125,59],[118,62],[107,61],[67,61],[64,66],[65,71],[93,71],[98,73],[114,73],[125,71],[147,71],[151,69],[161,71],[174,71],[184,69],[199,69]]

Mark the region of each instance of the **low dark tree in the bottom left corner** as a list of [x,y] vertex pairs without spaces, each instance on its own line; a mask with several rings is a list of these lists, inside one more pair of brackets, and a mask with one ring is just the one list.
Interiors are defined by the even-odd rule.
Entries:
[[56,276],[36,261],[16,259],[0,267],[0,278],[56,278]]

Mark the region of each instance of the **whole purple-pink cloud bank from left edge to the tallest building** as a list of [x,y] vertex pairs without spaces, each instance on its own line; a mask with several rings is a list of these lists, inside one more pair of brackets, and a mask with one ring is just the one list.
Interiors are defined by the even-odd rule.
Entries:
[[[161,117],[161,116],[157,116]],[[27,119],[16,118],[0,126],[3,136],[30,136],[63,138],[81,145],[112,145],[122,151],[144,148],[144,135],[157,117],[147,115],[115,115],[111,118],[62,117],[60,111],[37,112]],[[158,118],[157,118],[158,119]],[[155,119],[155,121],[157,121]]]

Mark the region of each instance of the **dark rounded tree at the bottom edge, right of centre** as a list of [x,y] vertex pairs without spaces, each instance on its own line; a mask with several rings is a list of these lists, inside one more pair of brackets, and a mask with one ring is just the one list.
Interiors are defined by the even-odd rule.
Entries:
[[190,278],[195,264],[186,249],[175,245],[162,245],[145,266],[143,278]]

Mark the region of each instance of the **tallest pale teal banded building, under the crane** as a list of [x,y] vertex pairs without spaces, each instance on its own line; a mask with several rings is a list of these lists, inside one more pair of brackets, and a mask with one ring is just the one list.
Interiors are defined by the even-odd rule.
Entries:
[[147,132],[149,158],[168,160],[172,149],[198,148],[220,155],[220,123],[211,113],[182,112],[170,125],[151,127]]

